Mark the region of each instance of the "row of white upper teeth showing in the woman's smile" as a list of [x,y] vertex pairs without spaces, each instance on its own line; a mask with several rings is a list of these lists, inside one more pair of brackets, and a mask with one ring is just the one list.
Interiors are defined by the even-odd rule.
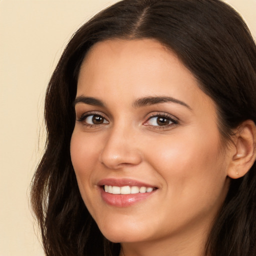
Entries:
[[145,187],[145,186],[111,186],[111,185],[104,185],[105,192],[111,194],[136,194],[136,193],[145,193],[153,191],[152,187]]

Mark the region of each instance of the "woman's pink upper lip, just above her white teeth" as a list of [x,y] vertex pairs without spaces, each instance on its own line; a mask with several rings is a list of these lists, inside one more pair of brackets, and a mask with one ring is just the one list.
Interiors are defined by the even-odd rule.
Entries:
[[97,185],[111,185],[111,186],[145,186],[145,187],[156,187],[154,185],[144,183],[135,179],[130,178],[103,178],[98,181]]

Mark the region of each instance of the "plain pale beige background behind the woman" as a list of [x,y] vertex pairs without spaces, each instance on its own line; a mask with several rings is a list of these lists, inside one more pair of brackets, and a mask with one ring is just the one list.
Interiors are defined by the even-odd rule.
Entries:
[[[28,207],[43,97],[71,34],[117,0],[0,0],[0,256],[42,256]],[[256,0],[226,0],[256,36]],[[39,137],[39,140],[38,140]]]

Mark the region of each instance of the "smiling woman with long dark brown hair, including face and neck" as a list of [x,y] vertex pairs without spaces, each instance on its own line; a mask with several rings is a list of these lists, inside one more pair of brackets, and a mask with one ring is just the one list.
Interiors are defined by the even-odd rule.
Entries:
[[256,255],[255,102],[256,47],[223,2],[98,13],[46,93],[46,255]]

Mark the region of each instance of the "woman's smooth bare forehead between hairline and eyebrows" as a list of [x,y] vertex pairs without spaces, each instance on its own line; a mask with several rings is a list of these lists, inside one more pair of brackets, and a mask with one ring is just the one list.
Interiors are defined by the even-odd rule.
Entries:
[[[155,39],[95,43],[80,68],[77,96],[122,98],[171,96],[187,104],[213,104],[176,54]],[[110,99],[109,97],[109,99]]]

